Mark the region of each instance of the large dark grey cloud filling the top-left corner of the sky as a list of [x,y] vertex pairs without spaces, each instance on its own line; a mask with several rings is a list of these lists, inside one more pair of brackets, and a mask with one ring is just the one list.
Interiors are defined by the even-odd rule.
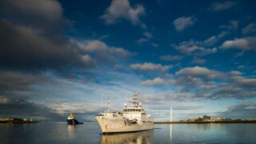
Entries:
[[69,21],[64,20],[62,5],[55,0],[3,0],[1,5],[3,5],[2,12],[4,12],[2,18],[9,19],[10,22],[14,21],[15,25],[36,29],[37,34],[50,33],[50,36],[58,34],[62,30],[60,26],[62,22]]

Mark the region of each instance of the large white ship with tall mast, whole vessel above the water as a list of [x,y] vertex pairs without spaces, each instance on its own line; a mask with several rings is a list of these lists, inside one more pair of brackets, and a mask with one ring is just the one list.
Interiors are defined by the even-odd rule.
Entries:
[[122,111],[108,111],[95,116],[102,133],[118,133],[152,130],[153,119],[146,113],[142,103],[138,102],[139,95],[132,96],[130,106],[125,104]]

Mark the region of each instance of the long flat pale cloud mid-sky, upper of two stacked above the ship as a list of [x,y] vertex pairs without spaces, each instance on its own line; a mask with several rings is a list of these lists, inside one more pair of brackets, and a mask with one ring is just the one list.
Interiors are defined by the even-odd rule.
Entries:
[[162,65],[162,64],[153,64],[153,63],[144,63],[144,64],[131,64],[130,68],[139,71],[160,71],[167,72],[170,68],[173,68],[172,65]]

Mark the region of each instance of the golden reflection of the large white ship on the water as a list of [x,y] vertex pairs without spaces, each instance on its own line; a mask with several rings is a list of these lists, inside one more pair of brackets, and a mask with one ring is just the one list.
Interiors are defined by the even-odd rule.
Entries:
[[99,143],[149,144],[153,138],[153,134],[153,130],[121,134],[102,134],[102,138]]

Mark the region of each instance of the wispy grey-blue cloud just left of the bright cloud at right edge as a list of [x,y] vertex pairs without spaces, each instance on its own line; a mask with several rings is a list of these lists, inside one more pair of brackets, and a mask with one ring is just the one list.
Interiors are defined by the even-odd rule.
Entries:
[[171,45],[179,52],[186,55],[192,56],[205,56],[208,54],[213,54],[217,52],[217,48],[206,49],[200,45],[203,45],[200,41],[182,41],[179,45]]

